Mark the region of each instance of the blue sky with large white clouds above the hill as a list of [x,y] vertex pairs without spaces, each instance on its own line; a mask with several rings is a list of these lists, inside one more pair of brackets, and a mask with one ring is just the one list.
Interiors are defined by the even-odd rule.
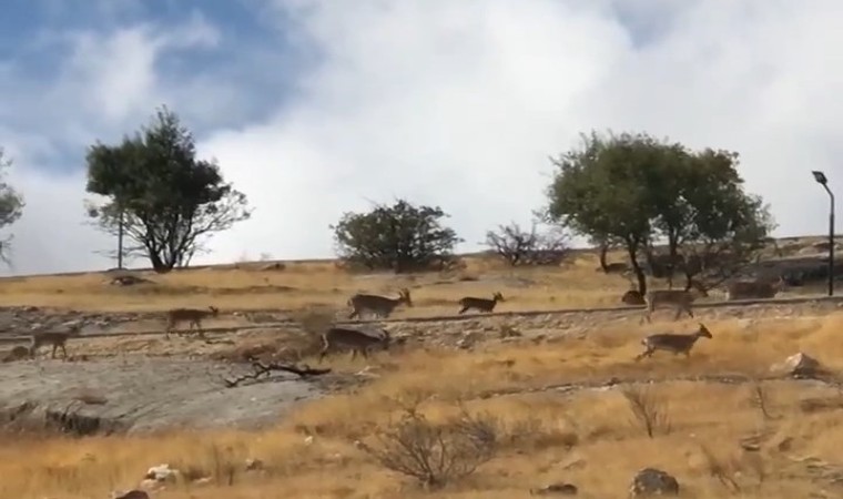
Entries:
[[[27,202],[6,274],[104,269],[87,147],[162,104],[253,217],[197,263],[328,257],[372,202],[441,206],[475,249],[546,203],[590,130],[741,154],[776,234],[823,234],[843,186],[834,0],[8,0],[0,146]],[[843,193],[843,190],[840,190]],[[143,262],[139,262],[142,264]]]

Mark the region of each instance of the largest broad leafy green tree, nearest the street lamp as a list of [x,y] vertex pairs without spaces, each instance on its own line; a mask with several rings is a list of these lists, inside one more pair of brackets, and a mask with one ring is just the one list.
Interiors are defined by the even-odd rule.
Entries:
[[[546,216],[623,246],[641,293],[647,282],[638,256],[656,241],[667,242],[670,262],[682,262],[690,286],[713,256],[738,265],[774,227],[763,201],[744,192],[733,152],[592,132],[551,161],[557,171]],[[694,271],[691,256],[703,262]]]

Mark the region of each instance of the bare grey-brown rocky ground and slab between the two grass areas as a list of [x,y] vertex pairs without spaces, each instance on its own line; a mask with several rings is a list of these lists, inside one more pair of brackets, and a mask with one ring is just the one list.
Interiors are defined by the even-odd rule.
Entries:
[[[815,302],[700,308],[697,315],[700,320],[730,317],[750,324],[771,315],[817,316],[837,308],[836,303]],[[484,342],[541,342],[583,335],[607,324],[629,320],[636,314],[634,310],[615,310],[476,316],[461,320],[390,322],[384,327],[393,336],[409,338],[410,344],[471,348]],[[0,338],[61,327],[68,322],[82,324],[84,335],[119,335],[71,340],[68,344],[70,361],[50,359],[49,349],[44,348],[35,360],[0,364],[0,421],[3,418],[20,421],[47,417],[74,432],[145,431],[181,425],[255,427],[272,422],[294,404],[318,397],[331,387],[348,381],[348,376],[345,379],[338,375],[299,379],[295,375],[275,373],[270,379],[226,387],[224,378],[252,371],[248,364],[232,361],[242,360],[250,352],[283,353],[281,359],[288,363],[295,363],[302,354],[312,353],[312,349],[301,350],[308,347],[306,342],[294,342],[306,336],[301,328],[290,323],[277,325],[285,319],[287,317],[283,314],[224,316],[213,326],[254,326],[255,322],[276,325],[214,334],[207,343],[195,338],[167,342],[163,335],[131,334],[155,330],[156,327],[161,330],[161,317],[155,315],[91,315],[32,307],[2,309]],[[652,327],[667,332],[677,325],[659,320]],[[8,352],[11,347],[8,345],[0,350]],[[365,365],[360,367],[365,371]],[[80,425],[84,427],[81,430],[77,428]]]

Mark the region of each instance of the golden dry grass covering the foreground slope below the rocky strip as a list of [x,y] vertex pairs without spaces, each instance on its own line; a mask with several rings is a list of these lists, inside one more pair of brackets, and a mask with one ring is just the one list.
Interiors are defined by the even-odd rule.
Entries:
[[[692,328],[690,323],[684,326]],[[810,413],[800,404],[805,398],[840,400],[836,389],[766,381],[762,386],[770,418],[753,401],[758,390],[752,384],[670,379],[690,374],[758,376],[798,350],[816,355],[833,369],[843,368],[843,314],[708,326],[714,338],[701,340],[688,360],[657,354],[634,363],[644,329],[632,324],[541,345],[378,354],[372,360],[378,379],[303,406],[276,428],[261,432],[179,431],[81,440],[4,436],[0,497],[105,497],[112,489],[135,485],[146,468],[161,462],[192,477],[209,477],[210,482],[175,483],[156,498],[504,499],[529,497],[531,487],[559,480],[576,483],[581,497],[623,497],[634,471],[646,466],[676,475],[687,490],[684,497],[793,498],[820,489],[834,497],[839,486],[812,478],[806,462],[795,459],[843,461],[840,404]],[[342,356],[333,363],[339,370],[364,365]],[[652,385],[650,395],[663,403],[670,431],[649,438],[620,389],[541,389],[612,376],[664,379]],[[524,393],[530,389],[537,391]],[[501,395],[508,391],[515,393]],[[418,405],[430,420],[443,420],[457,414],[459,404],[469,413],[494,416],[500,448],[476,473],[441,490],[418,489],[353,444],[372,444],[402,407]],[[760,436],[761,450],[743,451],[739,441],[753,435]],[[246,458],[261,459],[265,470],[245,471]],[[731,491],[735,486],[740,492]]]

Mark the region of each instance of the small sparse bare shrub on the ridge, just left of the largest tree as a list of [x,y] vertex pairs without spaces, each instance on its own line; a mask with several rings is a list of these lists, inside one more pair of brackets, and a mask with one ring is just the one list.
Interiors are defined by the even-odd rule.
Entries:
[[558,227],[539,233],[536,223],[530,231],[518,224],[499,225],[486,233],[486,246],[509,265],[559,265],[568,256],[568,237]]

